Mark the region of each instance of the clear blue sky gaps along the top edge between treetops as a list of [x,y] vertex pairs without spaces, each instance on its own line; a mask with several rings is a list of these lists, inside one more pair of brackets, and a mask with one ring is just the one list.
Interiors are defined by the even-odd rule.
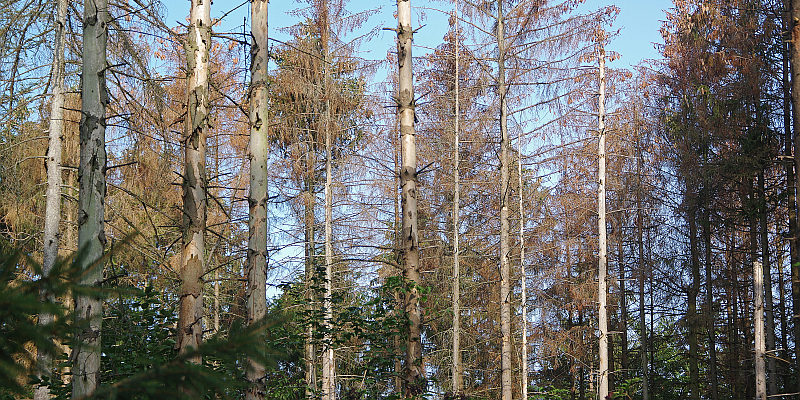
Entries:
[[[452,3],[446,1],[431,0],[412,0],[412,5],[416,7],[417,18],[422,17],[422,24],[425,24],[418,34],[415,35],[415,44],[419,50],[417,54],[424,50],[425,46],[437,45],[444,36],[447,29],[447,20],[439,16],[438,11],[433,8],[452,9]],[[186,0],[164,0],[169,14],[167,24],[175,25],[178,21],[184,22],[189,13],[189,2]],[[599,7],[616,4],[621,12],[617,17],[614,26],[609,30],[621,29],[620,35],[609,45],[610,50],[617,51],[622,55],[622,59],[617,61],[616,67],[635,65],[644,59],[658,58],[658,51],[654,43],[662,43],[659,29],[661,21],[665,19],[663,10],[672,7],[671,0],[587,0],[581,6],[581,10],[589,11]],[[241,6],[239,6],[241,5]],[[212,18],[220,18],[231,9],[239,6],[234,12],[228,14],[221,27],[222,30],[241,31],[243,19],[247,16],[250,2],[238,1],[227,2],[218,0],[212,6]],[[270,36],[280,39],[281,27],[295,24],[297,19],[288,14],[289,11],[302,6],[290,0],[272,0],[269,4],[269,25]],[[370,26],[394,27],[397,22],[393,18],[396,9],[396,2],[393,0],[351,0],[349,3],[353,12],[369,8],[378,8],[380,12],[369,22]],[[427,17],[423,17],[426,15]],[[364,47],[368,59],[383,58],[386,50],[394,46],[394,32],[382,31],[378,33],[368,45]],[[421,47],[420,47],[421,46]]]

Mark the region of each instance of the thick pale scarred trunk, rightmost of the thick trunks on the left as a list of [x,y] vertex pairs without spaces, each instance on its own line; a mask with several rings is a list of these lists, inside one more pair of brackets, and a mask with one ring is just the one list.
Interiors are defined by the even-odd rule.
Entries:
[[[247,322],[263,322],[267,315],[267,224],[269,119],[267,92],[268,24],[267,0],[250,3],[253,43],[250,47],[250,207],[247,240]],[[247,361],[246,400],[263,400],[266,395],[265,368],[257,360]]]

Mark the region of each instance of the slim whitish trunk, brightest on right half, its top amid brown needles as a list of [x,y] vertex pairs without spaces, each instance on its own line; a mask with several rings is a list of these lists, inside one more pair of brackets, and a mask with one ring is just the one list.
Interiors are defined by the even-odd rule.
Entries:
[[605,127],[605,100],[606,100],[606,53],[602,43],[598,44],[599,54],[599,79],[600,97],[598,100],[597,131],[599,134],[599,147],[597,150],[598,169],[597,169],[597,230],[598,230],[598,266],[597,266],[597,299],[598,299],[598,328],[600,329],[600,369],[597,371],[597,394],[598,399],[605,399],[608,396],[608,314],[606,312],[606,294],[608,283],[606,282],[607,248],[606,248],[606,127]]

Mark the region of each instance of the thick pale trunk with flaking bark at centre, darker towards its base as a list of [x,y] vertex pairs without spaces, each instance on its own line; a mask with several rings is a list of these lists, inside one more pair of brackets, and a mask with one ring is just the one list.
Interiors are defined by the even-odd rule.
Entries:
[[397,113],[400,120],[403,236],[403,277],[410,286],[405,293],[408,317],[406,360],[403,367],[405,397],[422,395],[427,390],[422,365],[422,315],[419,308],[419,227],[417,225],[417,148],[414,139],[414,75],[411,50],[414,30],[411,27],[411,1],[397,0],[397,62],[399,88]]

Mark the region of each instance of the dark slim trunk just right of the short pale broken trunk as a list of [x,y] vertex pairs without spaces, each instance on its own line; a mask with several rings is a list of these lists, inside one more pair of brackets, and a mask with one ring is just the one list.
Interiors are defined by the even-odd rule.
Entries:
[[766,341],[767,351],[773,352],[767,360],[767,370],[769,371],[769,393],[778,394],[778,374],[777,364],[775,363],[775,313],[772,301],[772,263],[769,260],[769,231],[767,224],[767,195],[764,188],[764,171],[758,172],[758,196],[759,196],[759,223],[761,233],[761,265],[764,291],[764,319],[767,324],[764,340]]

